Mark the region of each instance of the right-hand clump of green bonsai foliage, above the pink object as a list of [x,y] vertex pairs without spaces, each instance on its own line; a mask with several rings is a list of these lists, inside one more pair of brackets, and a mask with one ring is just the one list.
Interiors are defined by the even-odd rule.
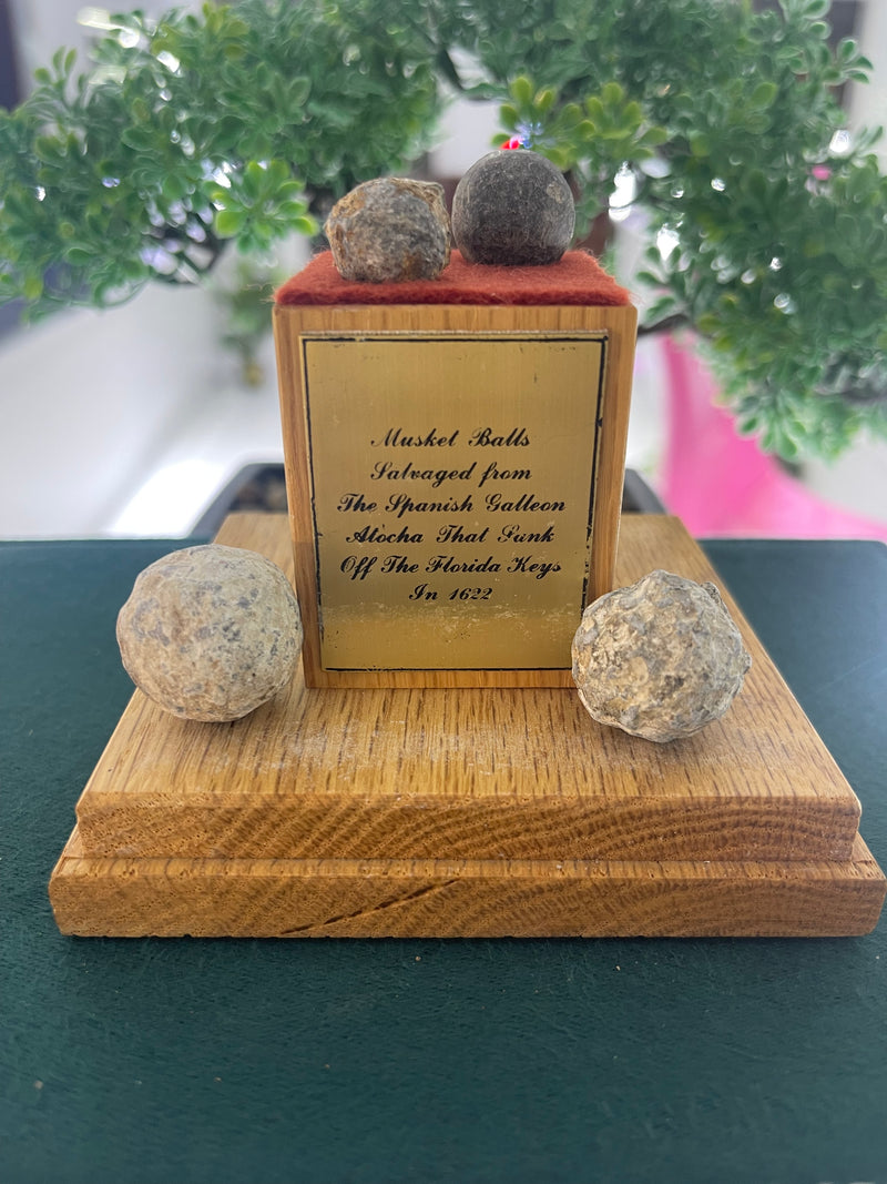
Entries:
[[786,459],[887,433],[887,178],[880,129],[844,130],[834,89],[870,63],[829,47],[828,0],[556,7],[543,41],[527,19],[477,45],[501,85],[507,58],[532,66],[504,131],[572,173],[585,218],[629,174],[648,327],[692,326],[740,430]]

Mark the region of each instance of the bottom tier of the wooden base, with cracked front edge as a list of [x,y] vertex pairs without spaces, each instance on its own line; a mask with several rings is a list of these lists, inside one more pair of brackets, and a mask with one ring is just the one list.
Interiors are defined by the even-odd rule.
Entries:
[[102,860],[75,831],[53,874],[82,937],[852,937],[885,881],[843,863],[544,860]]

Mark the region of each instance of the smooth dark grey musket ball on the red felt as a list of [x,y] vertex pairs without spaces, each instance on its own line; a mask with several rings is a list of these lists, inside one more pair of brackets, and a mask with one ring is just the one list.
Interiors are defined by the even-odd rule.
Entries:
[[523,148],[481,156],[453,198],[453,238],[470,263],[557,263],[575,225],[576,205],[563,174]]

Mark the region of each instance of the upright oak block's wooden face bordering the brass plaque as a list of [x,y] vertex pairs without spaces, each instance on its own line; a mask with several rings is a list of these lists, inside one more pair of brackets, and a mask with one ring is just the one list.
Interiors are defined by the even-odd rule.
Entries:
[[632,390],[636,310],[587,305],[384,304],[274,308],[284,455],[294,583],[305,624],[304,671],[309,687],[569,687],[564,670],[325,670],[321,661],[317,556],[313,546],[309,432],[303,401],[300,340],[337,333],[607,333],[602,429],[591,516],[589,600],[613,587],[622,504],[622,480]]

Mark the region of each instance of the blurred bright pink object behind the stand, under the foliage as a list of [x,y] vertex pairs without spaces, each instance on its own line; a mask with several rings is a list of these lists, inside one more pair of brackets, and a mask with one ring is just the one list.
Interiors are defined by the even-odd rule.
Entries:
[[880,539],[887,522],[831,506],[737,435],[717,386],[689,349],[662,342],[668,373],[668,446],[659,494],[695,536]]

